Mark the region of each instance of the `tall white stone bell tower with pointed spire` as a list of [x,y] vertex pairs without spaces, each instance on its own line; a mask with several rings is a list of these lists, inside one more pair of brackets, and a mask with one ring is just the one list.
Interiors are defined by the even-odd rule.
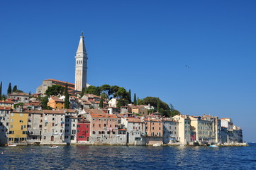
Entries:
[[76,59],[76,72],[74,89],[76,91],[82,91],[83,88],[87,89],[87,50],[84,45],[84,34],[82,32],[80,36],[79,45],[77,48]]

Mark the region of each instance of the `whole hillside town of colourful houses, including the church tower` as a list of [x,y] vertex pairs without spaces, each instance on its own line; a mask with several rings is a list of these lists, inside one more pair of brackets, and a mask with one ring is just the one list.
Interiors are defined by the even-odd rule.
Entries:
[[[165,114],[133,102],[118,87],[98,95],[87,84],[87,52],[80,36],[75,83],[43,80],[35,94],[17,89],[0,101],[0,145],[221,145],[243,142],[231,118]],[[53,93],[52,88],[60,88]],[[91,93],[90,93],[91,92]],[[111,97],[110,97],[111,96]],[[127,97],[128,96],[128,97]],[[127,98],[127,99],[126,99]],[[46,102],[45,102],[45,100]]]

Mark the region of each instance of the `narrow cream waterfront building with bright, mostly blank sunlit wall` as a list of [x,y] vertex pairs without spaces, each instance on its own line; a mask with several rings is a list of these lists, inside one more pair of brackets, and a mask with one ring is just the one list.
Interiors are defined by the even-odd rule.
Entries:
[[189,115],[174,115],[172,118],[179,122],[179,142],[189,144],[191,140]]

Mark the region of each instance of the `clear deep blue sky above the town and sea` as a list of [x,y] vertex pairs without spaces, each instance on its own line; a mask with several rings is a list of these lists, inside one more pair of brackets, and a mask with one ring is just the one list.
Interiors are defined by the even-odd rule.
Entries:
[[256,142],[255,8],[252,0],[0,1],[2,92],[9,82],[31,93],[44,79],[74,83],[83,31],[89,84],[232,118]]

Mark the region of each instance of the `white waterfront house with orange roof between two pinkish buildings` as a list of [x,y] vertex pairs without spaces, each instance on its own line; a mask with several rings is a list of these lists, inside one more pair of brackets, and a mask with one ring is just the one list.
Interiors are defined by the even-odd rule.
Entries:
[[145,122],[139,118],[121,118],[121,124],[127,132],[128,145],[145,145]]

